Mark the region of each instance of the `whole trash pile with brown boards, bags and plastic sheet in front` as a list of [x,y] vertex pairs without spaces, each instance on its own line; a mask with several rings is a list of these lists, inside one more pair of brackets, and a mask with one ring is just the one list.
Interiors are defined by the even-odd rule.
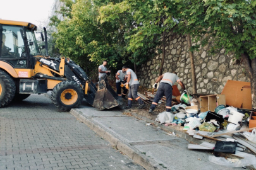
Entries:
[[[183,93],[171,112],[157,115],[156,122],[166,126],[183,126],[196,139],[208,138],[211,143],[188,144],[188,149],[213,150],[244,159],[209,156],[209,161],[226,167],[254,166],[256,169],[256,110],[248,82],[228,81],[221,94]],[[254,154],[245,152],[249,149]]]

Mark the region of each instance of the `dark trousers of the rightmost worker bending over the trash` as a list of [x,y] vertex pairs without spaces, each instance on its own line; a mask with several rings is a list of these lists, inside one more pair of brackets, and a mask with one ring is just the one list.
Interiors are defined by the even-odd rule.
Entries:
[[162,98],[162,96],[166,96],[166,111],[170,112],[172,95],[173,95],[172,86],[168,83],[161,82],[159,84],[159,88],[157,89],[157,93],[155,94],[152,105],[150,106],[150,109],[154,110],[155,106],[157,106],[157,103]]

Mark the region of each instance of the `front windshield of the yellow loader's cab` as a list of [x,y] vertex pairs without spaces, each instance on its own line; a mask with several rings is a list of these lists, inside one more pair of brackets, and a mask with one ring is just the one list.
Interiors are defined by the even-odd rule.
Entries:
[[30,55],[40,54],[34,31],[26,29],[26,33],[27,33],[27,39],[28,39],[28,47],[30,49]]

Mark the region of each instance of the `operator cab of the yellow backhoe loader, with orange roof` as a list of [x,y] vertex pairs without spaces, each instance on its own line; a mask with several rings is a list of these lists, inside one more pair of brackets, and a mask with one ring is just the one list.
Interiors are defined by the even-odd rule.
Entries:
[[41,55],[31,23],[0,20],[0,60],[13,68],[33,69],[35,55]]

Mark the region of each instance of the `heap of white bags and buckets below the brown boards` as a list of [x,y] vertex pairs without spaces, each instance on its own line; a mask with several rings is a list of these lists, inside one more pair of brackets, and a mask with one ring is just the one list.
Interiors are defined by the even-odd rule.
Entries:
[[[197,103],[195,98],[191,100]],[[243,123],[248,124],[252,114],[253,112],[225,105],[216,106],[214,111],[201,112],[197,105],[187,106],[185,103],[180,103],[172,106],[171,112],[159,113],[155,121],[161,124],[184,126],[183,130],[218,132],[219,130],[240,130]]]

